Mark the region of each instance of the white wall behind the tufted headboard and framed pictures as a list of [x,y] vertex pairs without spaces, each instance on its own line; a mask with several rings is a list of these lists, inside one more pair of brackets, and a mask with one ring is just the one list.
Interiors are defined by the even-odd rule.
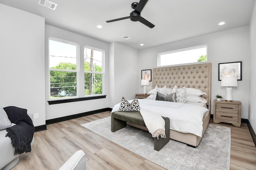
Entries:
[[[208,45],[208,62],[212,63],[211,106],[213,107],[213,100],[216,94],[226,96],[226,88],[221,87],[220,81],[218,81],[218,63],[242,61],[242,81],[238,81],[238,87],[233,88],[232,94],[233,100],[242,102],[242,118],[248,119],[250,79],[250,69],[248,67],[250,65],[250,36],[248,26],[140,50],[139,68],[140,70],[144,70],[156,67],[158,53],[204,44]],[[152,88],[151,83],[148,90],[150,88]],[[142,87],[140,87],[140,91],[142,91]],[[211,108],[212,111],[213,108]]]

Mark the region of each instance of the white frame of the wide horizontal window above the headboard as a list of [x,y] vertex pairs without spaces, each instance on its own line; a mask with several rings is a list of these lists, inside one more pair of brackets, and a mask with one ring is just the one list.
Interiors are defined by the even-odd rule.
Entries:
[[182,52],[182,51],[189,51],[189,50],[193,50],[193,49],[200,49],[200,48],[204,48],[204,47],[206,47],[206,61],[202,61],[202,62],[188,62],[188,63],[181,63],[181,64],[168,64],[168,65],[163,65],[163,66],[205,63],[205,62],[207,62],[207,44],[205,44],[205,45],[198,45],[198,46],[194,46],[194,47],[188,47],[188,48],[184,48],[184,49],[167,51],[167,52],[163,52],[163,53],[158,53],[157,66],[158,67],[163,67],[163,66],[160,65],[161,64],[161,55],[166,55],[166,54],[171,54],[171,53],[178,53],[178,52]]

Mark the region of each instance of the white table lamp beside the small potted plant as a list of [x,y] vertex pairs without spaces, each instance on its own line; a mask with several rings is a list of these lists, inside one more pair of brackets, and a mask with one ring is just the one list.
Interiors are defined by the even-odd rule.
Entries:
[[236,77],[222,77],[220,86],[225,86],[226,88],[226,98],[225,100],[228,102],[232,102],[232,87],[237,86],[237,78]]

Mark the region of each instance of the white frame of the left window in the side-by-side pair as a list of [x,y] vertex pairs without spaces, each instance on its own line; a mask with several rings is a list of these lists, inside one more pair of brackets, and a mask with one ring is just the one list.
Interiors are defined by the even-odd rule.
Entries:
[[[60,43],[66,43],[66,44],[70,44],[70,45],[74,45],[76,46],[76,70],[66,70],[66,69],[56,69],[56,68],[50,68],[50,43],[49,41],[58,41]],[[51,87],[50,87],[50,71],[54,70],[54,71],[66,71],[66,72],[76,72],[76,96],[71,96],[68,98],[51,98],[50,94],[48,94],[49,96],[49,100],[68,100],[68,99],[74,99],[74,98],[79,98],[79,89],[80,89],[80,84],[79,84],[79,75],[80,75],[80,71],[79,71],[79,44],[78,43],[73,43],[70,41],[66,41],[66,40],[62,40],[62,39],[58,39],[58,38],[54,38],[54,37],[48,37],[48,72],[49,72],[49,90],[51,91]]]

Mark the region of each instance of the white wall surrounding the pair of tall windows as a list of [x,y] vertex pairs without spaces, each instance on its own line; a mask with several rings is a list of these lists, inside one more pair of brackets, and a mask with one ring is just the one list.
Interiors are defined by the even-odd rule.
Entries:
[[[63,103],[63,104],[53,104],[49,105],[49,94],[50,94],[50,87],[49,87],[49,66],[48,66],[48,37],[54,37],[58,39],[63,39],[66,41],[78,43],[80,45],[80,56],[82,56],[82,63],[83,64],[83,57],[84,57],[84,45],[98,48],[105,50],[105,70],[106,70],[106,78],[105,78],[105,95],[106,98],[102,99],[95,99],[95,100],[85,100],[80,102],[70,102],[70,103]],[[84,113],[87,111],[93,111],[97,109],[103,109],[109,107],[109,74],[108,74],[108,43],[103,43],[101,41],[97,41],[95,39],[91,39],[76,33],[72,33],[63,29],[59,29],[56,27],[52,27],[50,25],[45,25],[45,98],[46,98],[46,120],[54,119],[58,117],[64,117],[68,115],[74,115],[78,113]]]

